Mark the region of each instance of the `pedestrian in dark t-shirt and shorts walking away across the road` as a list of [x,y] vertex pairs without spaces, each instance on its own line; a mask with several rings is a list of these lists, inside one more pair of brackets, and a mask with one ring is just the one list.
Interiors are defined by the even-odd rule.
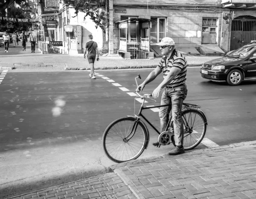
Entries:
[[[96,53],[97,53],[97,61],[99,61],[99,49],[98,49],[98,44],[93,41],[93,35],[89,34],[89,42],[86,43],[85,45],[85,50],[84,50],[84,58],[87,57],[88,62],[90,64],[90,74],[89,76],[91,79],[95,79],[95,74],[94,74],[94,62],[96,59]],[[88,54],[86,54],[88,51]]]

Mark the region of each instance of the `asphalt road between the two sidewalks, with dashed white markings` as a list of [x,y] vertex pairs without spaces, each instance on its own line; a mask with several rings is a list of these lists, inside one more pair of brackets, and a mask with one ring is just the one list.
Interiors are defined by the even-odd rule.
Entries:
[[[102,150],[102,134],[114,119],[134,114],[134,97],[127,92],[135,91],[138,73],[144,80],[151,70],[102,70],[97,72],[105,79],[96,80],[88,71],[13,70],[3,75],[0,198],[104,173],[114,162]],[[199,68],[189,68],[187,76],[185,102],[201,105],[208,120],[208,142],[197,148],[256,140],[256,82],[234,87],[211,82],[201,78]],[[152,93],[162,78],[147,85],[144,93]],[[147,105],[159,103],[160,98]],[[136,101],[137,111],[139,105]],[[144,115],[160,129],[157,112],[145,110]],[[154,142],[158,136],[149,131]],[[150,144],[140,158],[170,148]]]

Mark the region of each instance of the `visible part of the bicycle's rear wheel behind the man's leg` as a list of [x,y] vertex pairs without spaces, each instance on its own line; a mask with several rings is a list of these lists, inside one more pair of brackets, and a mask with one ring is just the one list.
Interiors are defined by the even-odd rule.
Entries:
[[198,146],[206,133],[206,121],[201,112],[195,109],[183,111],[184,139],[183,147],[191,150]]

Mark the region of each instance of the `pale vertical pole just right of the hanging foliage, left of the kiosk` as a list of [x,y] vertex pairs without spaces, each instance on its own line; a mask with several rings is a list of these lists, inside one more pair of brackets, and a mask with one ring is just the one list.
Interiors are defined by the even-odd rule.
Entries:
[[108,0],[109,11],[109,29],[108,29],[108,54],[114,54],[114,37],[113,37],[113,0]]

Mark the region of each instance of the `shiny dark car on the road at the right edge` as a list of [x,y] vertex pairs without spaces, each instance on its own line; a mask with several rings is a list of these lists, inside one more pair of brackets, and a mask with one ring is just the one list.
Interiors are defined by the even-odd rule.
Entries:
[[256,43],[244,45],[232,53],[206,62],[201,77],[239,85],[243,80],[256,80]]

